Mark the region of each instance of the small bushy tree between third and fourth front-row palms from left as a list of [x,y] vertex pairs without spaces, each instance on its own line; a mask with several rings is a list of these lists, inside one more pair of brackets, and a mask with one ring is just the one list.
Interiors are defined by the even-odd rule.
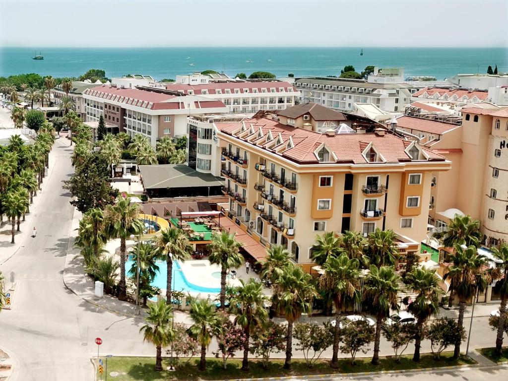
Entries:
[[261,356],[261,365],[268,368],[268,362],[272,353],[282,352],[286,345],[287,329],[281,324],[275,324],[271,320],[266,321],[260,329],[252,333],[250,353]]

